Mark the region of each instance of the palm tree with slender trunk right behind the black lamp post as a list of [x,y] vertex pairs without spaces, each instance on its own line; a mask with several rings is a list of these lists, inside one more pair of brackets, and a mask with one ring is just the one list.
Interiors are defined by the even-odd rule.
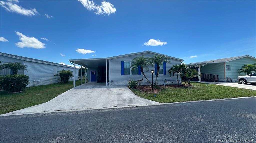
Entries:
[[161,56],[154,55],[153,58],[150,58],[151,65],[153,65],[153,63],[157,64],[157,68],[156,68],[157,71],[155,71],[156,72],[156,80],[155,80],[154,85],[156,85],[157,77],[159,75],[160,65],[162,65],[163,62],[170,63],[170,61],[168,61],[168,60],[169,60],[169,58],[166,55],[161,55]]

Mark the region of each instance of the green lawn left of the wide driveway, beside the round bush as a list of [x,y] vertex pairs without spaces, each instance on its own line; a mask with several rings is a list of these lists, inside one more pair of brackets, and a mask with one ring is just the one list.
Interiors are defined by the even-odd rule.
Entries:
[[[82,83],[84,82],[85,80],[82,78]],[[76,81],[76,86],[78,85],[80,85],[80,80]],[[0,114],[48,102],[71,88],[73,88],[73,81],[28,87],[21,93],[1,91]]]

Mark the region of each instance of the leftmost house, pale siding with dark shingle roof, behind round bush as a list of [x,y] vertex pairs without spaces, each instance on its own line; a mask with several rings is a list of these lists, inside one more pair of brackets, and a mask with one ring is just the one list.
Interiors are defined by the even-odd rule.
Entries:
[[[28,72],[26,70],[18,71],[18,74],[29,76],[29,84],[27,87],[58,83],[60,82],[60,78],[57,75],[58,71],[62,69],[74,71],[74,68],[71,66],[6,53],[0,53],[0,61],[3,63],[20,62],[27,65]],[[10,74],[10,69],[1,70],[1,76]],[[76,68],[75,75],[78,75],[78,68]],[[73,78],[70,80],[73,80]],[[78,80],[78,76],[76,76],[76,80]]]

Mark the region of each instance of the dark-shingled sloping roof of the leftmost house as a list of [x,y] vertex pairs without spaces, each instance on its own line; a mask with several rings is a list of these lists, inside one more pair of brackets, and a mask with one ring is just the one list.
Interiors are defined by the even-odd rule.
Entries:
[[36,63],[43,63],[43,64],[50,64],[50,65],[57,65],[57,66],[73,68],[72,66],[67,66],[67,65],[62,65],[62,64],[58,64],[58,63],[53,63],[53,62],[48,62],[48,61],[43,61],[43,60],[37,60],[37,59],[33,59],[33,58],[27,58],[27,57],[24,57],[24,56],[12,55],[12,54],[2,53],[2,52],[0,52],[0,55],[8,56],[8,57],[11,57],[11,58],[24,60],[24,61],[30,61],[30,62],[36,62]]

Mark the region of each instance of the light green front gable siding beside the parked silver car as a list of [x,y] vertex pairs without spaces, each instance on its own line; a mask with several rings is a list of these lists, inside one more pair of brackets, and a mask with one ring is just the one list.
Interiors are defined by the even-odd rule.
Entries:
[[[230,65],[231,70],[226,70],[226,76],[229,76],[232,79],[232,81],[237,81],[238,76],[246,75],[243,72],[241,74],[238,73],[238,70],[242,67],[242,65],[254,64],[254,63],[256,63],[256,60],[249,58],[249,57],[245,57],[245,58],[241,58],[238,60],[227,62],[226,65]],[[254,71],[254,72],[256,72],[256,71]]]

